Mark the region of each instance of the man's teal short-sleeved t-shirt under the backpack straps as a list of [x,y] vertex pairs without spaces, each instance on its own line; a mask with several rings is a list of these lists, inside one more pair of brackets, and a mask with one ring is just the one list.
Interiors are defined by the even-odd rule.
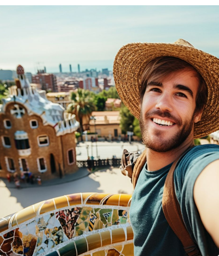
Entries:
[[[175,191],[182,217],[202,256],[218,256],[219,249],[201,222],[193,199],[193,186],[201,171],[216,159],[219,159],[219,145],[199,145],[191,148],[180,159],[174,172]],[[135,256],[186,255],[162,210],[163,186],[171,165],[148,171],[146,162],[139,175],[130,207]]]

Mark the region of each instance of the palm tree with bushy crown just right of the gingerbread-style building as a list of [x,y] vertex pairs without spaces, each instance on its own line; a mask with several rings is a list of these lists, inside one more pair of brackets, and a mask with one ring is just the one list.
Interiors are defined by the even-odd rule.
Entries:
[[67,112],[76,115],[77,121],[80,123],[81,141],[83,141],[83,117],[90,118],[91,113],[96,110],[93,103],[93,93],[89,90],[78,88],[76,92],[71,93],[72,103],[68,105]]

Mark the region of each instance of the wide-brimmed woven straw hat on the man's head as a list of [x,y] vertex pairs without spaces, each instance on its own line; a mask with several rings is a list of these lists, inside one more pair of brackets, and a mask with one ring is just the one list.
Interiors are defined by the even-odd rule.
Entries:
[[195,123],[194,138],[219,130],[219,59],[178,39],[168,43],[129,43],[122,46],[113,63],[113,77],[118,94],[131,113],[140,116],[141,74],[148,62],[160,56],[173,56],[193,65],[208,86],[207,104],[201,120]]

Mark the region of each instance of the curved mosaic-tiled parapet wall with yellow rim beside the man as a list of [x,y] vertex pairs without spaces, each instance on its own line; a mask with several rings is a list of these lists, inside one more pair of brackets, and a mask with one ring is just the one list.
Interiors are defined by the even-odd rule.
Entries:
[[131,195],[78,193],[0,219],[0,255],[133,256]]

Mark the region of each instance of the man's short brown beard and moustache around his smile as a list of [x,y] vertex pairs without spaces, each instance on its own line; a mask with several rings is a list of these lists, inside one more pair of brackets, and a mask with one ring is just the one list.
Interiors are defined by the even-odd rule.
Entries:
[[[148,120],[150,116],[155,114],[159,115],[160,117],[170,118],[171,120],[176,122],[176,125],[179,125],[179,126],[182,125],[181,120],[176,119],[169,112],[162,112],[158,109],[156,111],[153,111],[147,114],[146,120]],[[191,120],[189,121],[187,120],[186,123],[182,126],[182,128],[175,135],[173,135],[172,138],[169,138],[169,140],[165,141],[165,143],[162,143],[162,141],[160,141],[160,143],[157,143],[156,141],[153,141],[152,135],[150,135],[147,131],[147,125],[143,121],[143,114],[142,114],[142,108],[141,108],[140,117],[139,117],[139,126],[141,130],[143,144],[145,144],[147,148],[160,153],[164,153],[179,147],[188,138],[189,134],[191,133],[192,126],[194,124],[194,118],[195,117],[193,113]],[[156,131],[155,135],[159,138],[159,136],[162,135],[162,131]]]

